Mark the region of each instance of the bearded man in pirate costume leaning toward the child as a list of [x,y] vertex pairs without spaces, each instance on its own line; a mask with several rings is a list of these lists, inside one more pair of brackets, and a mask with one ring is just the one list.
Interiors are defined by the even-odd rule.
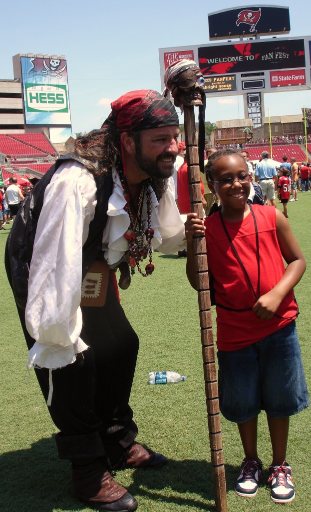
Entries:
[[7,245],[28,367],[60,430],[59,457],[72,463],[72,494],[101,512],[137,508],[112,470],[166,463],[135,441],[128,401],[139,340],[118,300],[114,270],[120,267],[119,286],[127,288],[128,269],[152,273],[153,249],[171,254],[184,247],[169,187],[178,125],[173,105],[156,91],[124,94],[101,130],[78,139],[76,153],[59,159],[34,187],[29,204],[43,204],[26,308],[12,266],[18,219]]

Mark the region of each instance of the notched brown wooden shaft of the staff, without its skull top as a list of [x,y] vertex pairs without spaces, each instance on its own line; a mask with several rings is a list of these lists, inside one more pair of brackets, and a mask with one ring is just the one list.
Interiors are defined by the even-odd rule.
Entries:
[[[195,212],[200,219],[203,219],[198,144],[193,106],[184,105],[184,123],[191,211]],[[215,505],[217,512],[228,512],[205,237],[193,237],[193,248]]]

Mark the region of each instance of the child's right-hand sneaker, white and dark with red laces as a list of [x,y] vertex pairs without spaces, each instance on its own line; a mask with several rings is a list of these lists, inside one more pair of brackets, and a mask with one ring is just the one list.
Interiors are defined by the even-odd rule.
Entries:
[[290,503],[295,498],[293,472],[285,460],[280,466],[269,466],[271,485],[271,499],[275,503]]

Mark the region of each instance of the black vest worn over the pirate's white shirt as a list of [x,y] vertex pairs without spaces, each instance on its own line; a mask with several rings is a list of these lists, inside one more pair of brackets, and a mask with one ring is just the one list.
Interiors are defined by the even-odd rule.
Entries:
[[[29,268],[45,190],[58,167],[66,160],[86,163],[86,160],[80,158],[76,153],[59,158],[23,201],[7,240],[6,271],[15,301],[22,309],[25,309],[27,303]],[[90,223],[88,237],[82,249],[82,279],[102,250],[103,231],[108,217],[108,201],[113,191],[112,175],[94,176],[94,178],[97,187],[97,204],[94,219]]]

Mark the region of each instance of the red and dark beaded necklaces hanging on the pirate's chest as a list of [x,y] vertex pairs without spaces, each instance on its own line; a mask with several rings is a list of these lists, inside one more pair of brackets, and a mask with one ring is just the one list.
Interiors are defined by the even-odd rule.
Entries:
[[[126,204],[124,210],[127,212],[130,220],[130,225],[127,231],[124,233],[124,237],[128,240],[128,251],[129,251],[129,266],[131,274],[135,274],[135,267],[139,273],[146,278],[147,275],[151,275],[154,270],[152,264],[152,238],[154,235],[154,229],[151,228],[151,180],[150,178],[142,183],[141,191],[139,194],[138,205],[135,207],[135,203],[130,195],[129,187],[126,182],[126,171],[124,167],[118,168],[118,174],[120,177],[124,199]],[[142,209],[144,203],[146,191],[146,204],[147,204],[147,229],[144,230],[144,222],[142,222]],[[146,242],[145,242],[146,240]],[[142,271],[140,263],[147,258],[149,254],[149,263],[145,267],[145,272]]]

